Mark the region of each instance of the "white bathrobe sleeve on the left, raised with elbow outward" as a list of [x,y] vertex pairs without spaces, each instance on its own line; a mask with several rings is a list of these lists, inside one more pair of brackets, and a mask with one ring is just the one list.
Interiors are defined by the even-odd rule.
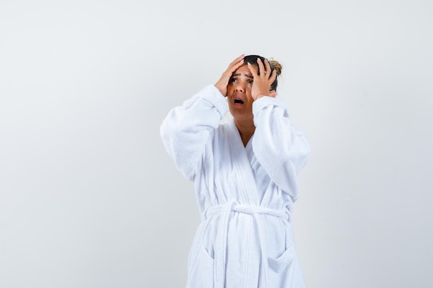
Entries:
[[187,180],[194,180],[201,171],[206,144],[227,111],[227,99],[214,85],[208,85],[163,120],[160,134],[164,146]]

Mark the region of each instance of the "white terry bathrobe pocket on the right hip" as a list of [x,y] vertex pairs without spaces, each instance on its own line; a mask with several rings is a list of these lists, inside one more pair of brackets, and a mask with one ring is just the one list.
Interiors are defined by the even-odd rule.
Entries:
[[304,288],[295,246],[288,247],[278,258],[268,258],[270,287]]

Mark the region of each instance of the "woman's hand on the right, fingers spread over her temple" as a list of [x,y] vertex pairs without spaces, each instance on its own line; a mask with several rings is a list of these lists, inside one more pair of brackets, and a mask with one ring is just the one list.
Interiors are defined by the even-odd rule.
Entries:
[[252,99],[257,100],[263,96],[275,97],[277,93],[275,93],[275,90],[270,90],[270,85],[275,81],[277,72],[273,70],[273,72],[270,73],[268,59],[266,59],[265,64],[263,64],[261,60],[257,58],[257,64],[259,65],[259,69],[248,63],[248,68],[250,68],[252,77],[254,77],[251,88]]

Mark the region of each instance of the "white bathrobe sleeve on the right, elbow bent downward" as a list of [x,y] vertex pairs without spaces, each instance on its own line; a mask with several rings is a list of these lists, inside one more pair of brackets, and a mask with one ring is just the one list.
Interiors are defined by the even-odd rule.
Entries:
[[257,161],[279,189],[298,198],[297,175],[308,160],[310,146],[291,124],[282,99],[261,97],[252,104],[256,126],[252,149]]

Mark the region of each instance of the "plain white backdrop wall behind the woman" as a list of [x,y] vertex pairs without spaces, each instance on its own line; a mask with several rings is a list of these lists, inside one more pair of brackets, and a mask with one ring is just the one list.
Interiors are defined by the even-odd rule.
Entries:
[[201,221],[160,140],[235,57],[312,152],[308,288],[433,285],[433,2],[0,2],[0,287],[185,287]]

